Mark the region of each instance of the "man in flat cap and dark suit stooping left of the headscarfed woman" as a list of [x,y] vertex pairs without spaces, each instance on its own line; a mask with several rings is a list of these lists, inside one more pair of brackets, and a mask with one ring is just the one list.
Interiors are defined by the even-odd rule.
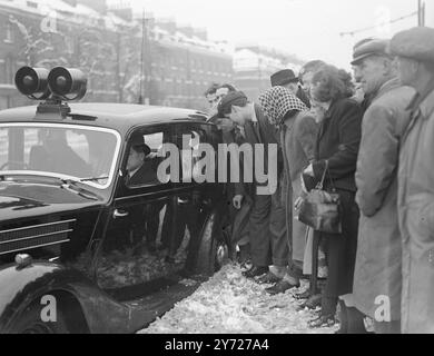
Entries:
[[[283,172],[283,156],[278,148],[277,131],[274,126],[265,117],[260,106],[249,102],[247,97],[241,91],[229,92],[218,105],[219,117],[226,117],[234,121],[239,127],[240,135],[245,144],[264,145],[264,166],[268,175],[268,148],[270,145],[277,145],[277,177]],[[255,162],[255,157],[253,162]],[[247,160],[245,160],[247,164]],[[244,167],[245,169],[253,169]],[[244,190],[245,186],[236,185],[236,196],[234,205],[241,206],[241,201],[249,196],[253,201],[250,210],[248,230],[250,231],[250,254],[251,269],[244,275],[247,278],[255,278],[267,275],[267,281],[277,281],[285,275],[288,263],[288,245],[286,244],[286,217],[285,206],[282,204],[279,188],[276,191],[270,191],[268,195],[258,194],[258,187],[269,186],[270,181],[258,182],[254,177],[254,184],[247,185],[248,191]],[[284,241],[278,244],[277,241]],[[275,274],[269,273],[268,266],[275,267]],[[274,279],[273,279],[274,277]],[[272,280],[273,279],[273,280]]]

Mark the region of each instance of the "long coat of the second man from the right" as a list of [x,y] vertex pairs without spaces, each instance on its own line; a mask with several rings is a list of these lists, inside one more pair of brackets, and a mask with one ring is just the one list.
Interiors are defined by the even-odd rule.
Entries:
[[[367,108],[356,170],[361,209],[353,294],[357,309],[375,318],[382,298],[391,320],[401,318],[402,249],[397,220],[400,144],[410,121],[414,90],[385,82]],[[379,314],[378,314],[379,315]]]

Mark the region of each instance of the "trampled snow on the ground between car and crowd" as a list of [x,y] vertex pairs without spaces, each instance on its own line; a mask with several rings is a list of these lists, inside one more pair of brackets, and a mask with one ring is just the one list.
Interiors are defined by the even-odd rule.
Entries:
[[316,315],[296,310],[294,290],[269,296],[265,287],[227,265],[139,334],[333,334],[338,328],[308,328]]

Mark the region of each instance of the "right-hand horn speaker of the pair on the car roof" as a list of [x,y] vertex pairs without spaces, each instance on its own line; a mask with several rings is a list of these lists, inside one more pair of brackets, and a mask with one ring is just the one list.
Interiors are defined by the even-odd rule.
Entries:
[[48,87],[62,100],[79,100],[86,95],[87,78],[79,69],[56,67],[48,75]]

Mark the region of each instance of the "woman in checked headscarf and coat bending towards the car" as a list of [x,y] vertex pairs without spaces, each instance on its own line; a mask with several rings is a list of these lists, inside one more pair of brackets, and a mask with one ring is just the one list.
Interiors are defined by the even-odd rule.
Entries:
[[266,289],[270,294],[278,294],[299,285],[303,275],[307,227],[294,219],[293,200],[300,196],[300,175],[314,158],[317,126],[305,103],[284,87],[268,89],[259,97],[259,102],[270,122],[279,130],[285,168],[282,198],[286,208],[289,268],[282,281]]

